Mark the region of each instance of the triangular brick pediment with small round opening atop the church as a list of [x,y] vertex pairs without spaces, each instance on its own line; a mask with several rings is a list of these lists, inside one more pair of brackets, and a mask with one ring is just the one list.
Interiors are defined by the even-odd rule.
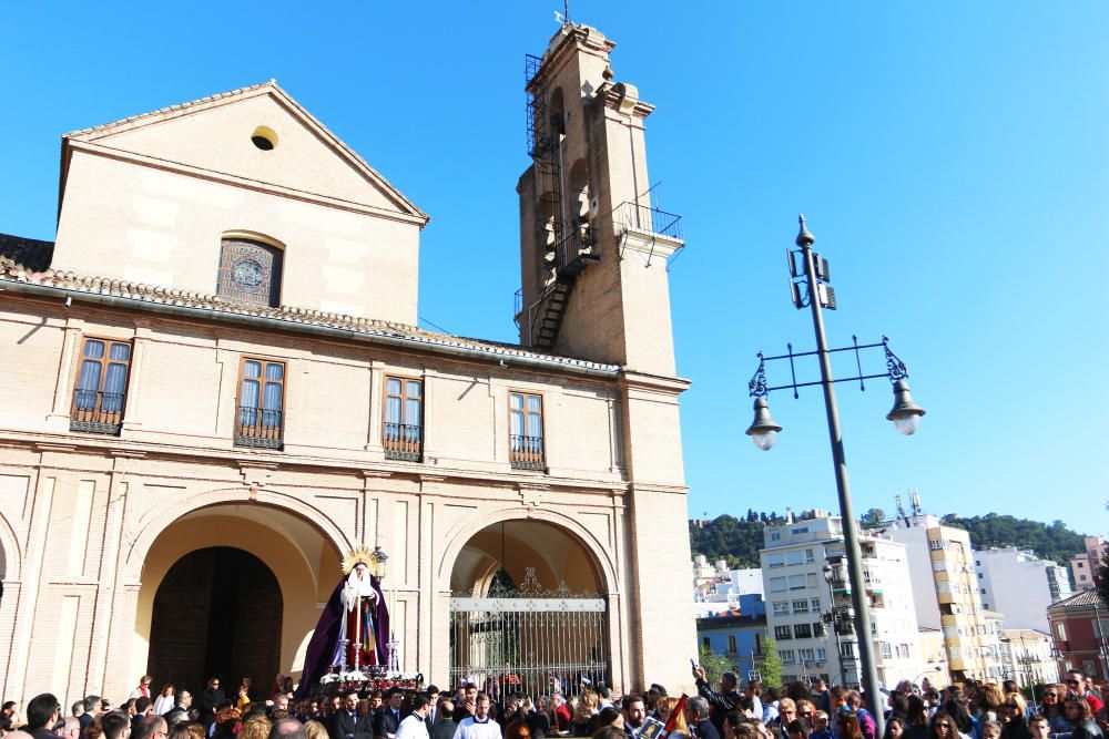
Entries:
[[[254,143],[260,131],[272,148]],[[63,143],[427,220],[273,81],[77,131]]]

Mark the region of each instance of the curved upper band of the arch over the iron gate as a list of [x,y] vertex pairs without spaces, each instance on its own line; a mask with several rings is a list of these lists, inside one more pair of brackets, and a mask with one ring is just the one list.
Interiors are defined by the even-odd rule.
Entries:
[[592,565],[596,567],[596,578],[601,594],[614,594],[619,591],[617,578],[617,566],[613,553],[609,551],[592,532],[586,528],[572,516],[554,511],[543,511],[541,517],[537,517],[527,509],[519,506],[505,506],[491,511],[479,511],[466,516],[456,523],[445,537],[442,560],[436,574],[439,592],[450,591],[450,578],[454,572],[455,562],[458,560],[462,548],[486,528],[491,525],[510,522],[529,521],[532,523],[543,523],[560,528],[583,551]]

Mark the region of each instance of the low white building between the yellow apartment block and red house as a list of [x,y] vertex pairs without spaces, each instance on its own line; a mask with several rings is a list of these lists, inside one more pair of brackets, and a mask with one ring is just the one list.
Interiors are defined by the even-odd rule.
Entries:
[[1005,614],[1006,628],[1048,630],[1047,607],[1071,595],[1067,568],[1015,546],[976,551],[981,607]]

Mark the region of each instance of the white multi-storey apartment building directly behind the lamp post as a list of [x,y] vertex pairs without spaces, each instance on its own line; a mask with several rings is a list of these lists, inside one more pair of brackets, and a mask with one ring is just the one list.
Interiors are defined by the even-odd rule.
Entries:
[[[843,524],[826,511],[766,526],[760,551],[767,634],[777,644],[782,680],[823,677],[858,685],[858,644],[851,627],[851,586]],[[926,669],[922,659],[905,547],[887,537],[861,540],[878,681],[894,687]],[[831,566],[831,579],[824,566]]]

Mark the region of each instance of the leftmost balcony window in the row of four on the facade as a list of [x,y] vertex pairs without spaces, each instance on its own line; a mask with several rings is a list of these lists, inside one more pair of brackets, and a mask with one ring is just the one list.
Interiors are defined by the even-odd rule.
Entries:
[[119,434],[131,365],[125,341],[85,339],[73,387],[70,431]]

